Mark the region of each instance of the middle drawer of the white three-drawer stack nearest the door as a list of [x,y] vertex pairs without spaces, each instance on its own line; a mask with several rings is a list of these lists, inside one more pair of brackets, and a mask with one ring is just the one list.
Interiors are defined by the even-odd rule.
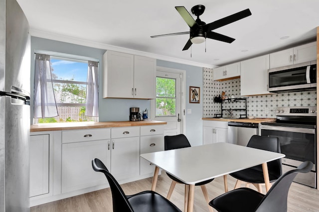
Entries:
[[155,135],[155,136],[144,136],[141,137],[140,141],[140,153],[149,153],[155,151],[163,151],[164,150],[164,136],[163,135]]

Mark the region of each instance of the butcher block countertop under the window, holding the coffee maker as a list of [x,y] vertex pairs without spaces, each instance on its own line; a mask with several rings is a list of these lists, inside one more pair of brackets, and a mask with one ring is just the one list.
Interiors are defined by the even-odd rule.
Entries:
[[135,127],[148,125],[165,125],[167,122],[160,121],[123,121],[123,122],[62,122],[35,124],[30,126],[30,132],[59,131],[59,130],[81,130],[94,128]]

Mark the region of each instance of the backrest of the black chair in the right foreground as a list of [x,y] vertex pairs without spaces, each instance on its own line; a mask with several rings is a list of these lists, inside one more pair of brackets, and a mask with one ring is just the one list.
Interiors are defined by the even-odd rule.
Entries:
[[298,173],[307,173],[313,168],[311,161],[303,162],[297,169],[284,173],[270,188],[255,212],[287,212],[289,188]]

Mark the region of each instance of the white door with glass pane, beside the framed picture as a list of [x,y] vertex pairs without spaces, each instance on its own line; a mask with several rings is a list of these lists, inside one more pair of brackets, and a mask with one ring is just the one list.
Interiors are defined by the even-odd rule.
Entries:
[[181,113],[182,91],[181,73],[157,71],[155,120],[167,122],[164,135],[182,133],[184,115]]

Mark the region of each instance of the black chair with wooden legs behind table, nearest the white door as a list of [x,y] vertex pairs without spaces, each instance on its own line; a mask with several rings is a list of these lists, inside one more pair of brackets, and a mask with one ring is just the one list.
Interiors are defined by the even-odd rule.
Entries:
[[[164,136],[164,150],[171,150],[171,149],[178,149],[178,148],[185,148],[185,147],[190,147],[190,143],[188,141],[188,139],[186,138],[185,135],[183,134],[179,134],[179,135],[176,135],[176,136]],[[174,176],[166,173],[167,176],[172,179],[172,182],[170,184],[170,188],[169,188],[169,191],[168,191],[168,194],[167,194],[167,200],[170,199],[171,197],[171,194],[175,188],[175,185],[176,183],[182,183],[184,184],[182,181],[180,181],[179,179],[175,178]],[[209,198],[208,198],[208,193],[207,193],[207,189],[206,189],[206,186],[205,184],[207,183],[210,183],[211,181],[213,181],[214,179],[211,179],[211,180],[206,180],[206,181],[203,181],[203,182],[200,182],[200,183],[196,183],[195,186],[200,186],[203,194],[204,194],[204,198],[207,202],[207,206],[208,206],[208,209],[210,212],[213,212],[213,210],[211,209],[211,207],[209,207],[208,203],[209,203]],[[188,192],[188,185],[185,184],[185,209],[186,209],[186,206],[187,206],[187,193]]]

